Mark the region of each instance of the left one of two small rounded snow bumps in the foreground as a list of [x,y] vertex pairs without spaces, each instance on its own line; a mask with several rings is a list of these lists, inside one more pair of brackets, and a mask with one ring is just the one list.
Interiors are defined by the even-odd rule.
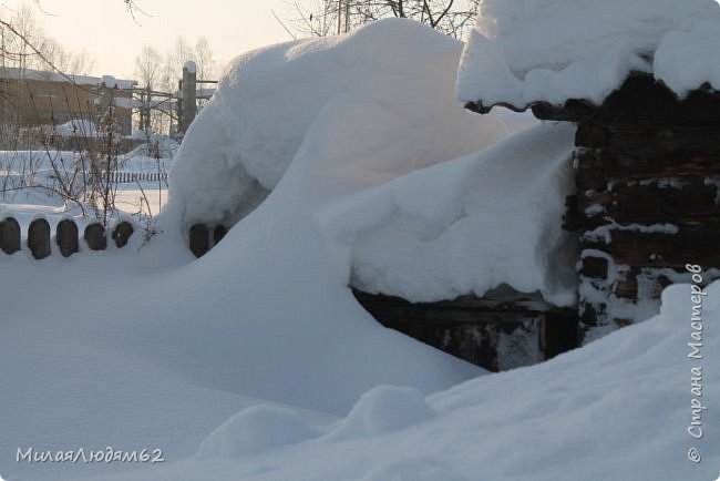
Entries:
[[202,443],[198,457],[235,458],[257,454],[285,444],[316,438],[320,431],[299,415],[277,406],[253,406],[213,431]]

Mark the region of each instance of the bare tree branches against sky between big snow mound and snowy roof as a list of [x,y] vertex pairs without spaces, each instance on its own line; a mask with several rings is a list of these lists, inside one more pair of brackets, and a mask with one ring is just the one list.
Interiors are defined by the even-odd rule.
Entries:
[[295,3],[298,32],[328,35],[388,17],[409,18],[461,38],[477,16],[477,0],[316,0],[309,8]]

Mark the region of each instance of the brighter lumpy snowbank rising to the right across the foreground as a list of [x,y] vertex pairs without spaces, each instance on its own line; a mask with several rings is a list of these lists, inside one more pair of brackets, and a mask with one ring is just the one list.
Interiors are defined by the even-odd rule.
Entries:
[[[720,417],[713,415],[720,283],[706,293],[702,359],[688,358],[698,332],[691,286],[675,285],[656,318],[543,365],[426,399],[378,387],[330,424],[286,409],[245,409],[193,459],[107,480],[713,480],[720,473]],[[698,368],[693,393],[691,369]],[[689,434],[693,416],[701,439]],[[688,459],[691,448],[699,463]]]

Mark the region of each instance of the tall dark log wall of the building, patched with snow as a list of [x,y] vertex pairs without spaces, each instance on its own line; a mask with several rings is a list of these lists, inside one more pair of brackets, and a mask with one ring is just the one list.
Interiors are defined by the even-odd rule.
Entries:
[[664,287],[690,280],[687,264],[706,283],[719,277],[720,95],[678,100],[637,75],[597,109],[570,101],[534,113],[578,125],[565,221],[580,236],[584,331],[642,320]]

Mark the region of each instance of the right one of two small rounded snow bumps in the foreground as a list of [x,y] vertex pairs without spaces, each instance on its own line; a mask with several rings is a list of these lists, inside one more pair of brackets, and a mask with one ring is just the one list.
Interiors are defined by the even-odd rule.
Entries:
[[435,416],[416,389],[378,386],[362,395],[348,417],[325,439],[336,441],[384,434]]

